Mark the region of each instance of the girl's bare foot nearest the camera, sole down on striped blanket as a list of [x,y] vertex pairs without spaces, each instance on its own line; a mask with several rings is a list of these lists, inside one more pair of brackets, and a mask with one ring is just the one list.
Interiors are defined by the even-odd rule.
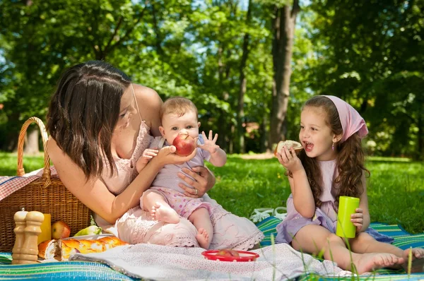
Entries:
[[404,258],[399,258],[392,253],[363,253],[357,261],[353,261],[356,265],[358,274],[369,273],[378,268],[387,268],[394,265],[404,263]]

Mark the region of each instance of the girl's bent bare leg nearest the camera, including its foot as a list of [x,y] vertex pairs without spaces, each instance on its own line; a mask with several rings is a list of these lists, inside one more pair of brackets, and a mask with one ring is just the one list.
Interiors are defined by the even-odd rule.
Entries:
[[324,250],[324,258],[334,261],[344,270],[355,271],[359,274],[401,264],[403,258],[391,253],[355,253],[349,252],[343,240],[319,225],[306,225],[295,235],[293,248],[307,253],[319,253]]

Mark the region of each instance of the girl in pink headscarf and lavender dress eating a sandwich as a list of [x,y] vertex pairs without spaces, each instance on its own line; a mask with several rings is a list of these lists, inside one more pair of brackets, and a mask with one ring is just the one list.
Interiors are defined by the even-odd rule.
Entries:
[[[305,103],[299,133],[304,150],[296,155],[293,148],[285,147],[277,154],[288,170],[291,189],[288,215],[277,226],[277,243],[291,243],[307,253],[323,251],[325,259],[359,274],[376,268],[406,268],[409,250],[382,242],[387,237],[368,229],[365,174],[370,172],[364,167],[361,147],[367,133],[360,114],[338,97],[315,96]],[[339,196],[360,198],[359,208],[351,215],[357,232],[348,240],[352,253],[334,234]],[[412,256],[412,271],[423,271],[424,249],[412,249]]]

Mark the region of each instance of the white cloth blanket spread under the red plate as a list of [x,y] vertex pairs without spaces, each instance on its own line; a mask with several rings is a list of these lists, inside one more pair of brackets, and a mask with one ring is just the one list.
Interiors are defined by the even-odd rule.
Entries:
[[76,253],[71,261],[97,261],[125,275],[149,280],[288,280],[303,273],[348,276],[331,261],[323,263],[288,244],[254,250],[254,262],[209,261],[201,248],[152,244],[120,246],[103,253]]

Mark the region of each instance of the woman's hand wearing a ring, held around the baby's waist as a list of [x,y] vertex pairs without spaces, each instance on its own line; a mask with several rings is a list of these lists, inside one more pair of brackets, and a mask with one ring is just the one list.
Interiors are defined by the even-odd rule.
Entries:
[[204,196],[215,184],[215,176],[206,167],[193,167],[192,170],[182,168],[182,172],[178,173],[178,177],[187,183],[179,183],[178,186],[184,189],[185,196],[192,198]]

